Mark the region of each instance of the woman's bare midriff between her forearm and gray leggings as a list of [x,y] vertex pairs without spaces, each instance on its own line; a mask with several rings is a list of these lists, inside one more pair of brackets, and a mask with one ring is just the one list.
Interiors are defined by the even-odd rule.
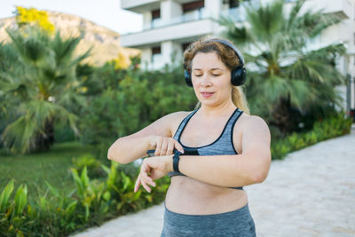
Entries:
[[211,215],[241,209],[248,203],[245,191],[213,186],[185,176],[171,177],[165,205],[185,215]]

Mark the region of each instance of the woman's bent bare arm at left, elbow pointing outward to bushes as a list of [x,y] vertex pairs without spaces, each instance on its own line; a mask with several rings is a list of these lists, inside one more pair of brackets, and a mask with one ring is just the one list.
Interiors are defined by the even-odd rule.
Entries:
[[107,158],[125,164],[146,156],[146,151],[157,148],[164,138],[172,139],[172,124],[181,113],[184,112],[165,115],[130,136],[118,138],[108,149]]

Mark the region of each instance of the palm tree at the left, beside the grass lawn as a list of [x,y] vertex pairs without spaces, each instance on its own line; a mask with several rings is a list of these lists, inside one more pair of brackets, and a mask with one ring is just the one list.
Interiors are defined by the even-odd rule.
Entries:
[[89,54],[87,51],[75,57],[81,39],[62,39],[59,32],[50,36],[34,27],[7,33],[18,64],[13,66],[13,72],[0,74],[0,95],[4,101],[16,101],[15,105],[12,103],[16,119],[2,134],[4,145],[21,154],[48,149],[58,121],[69,122],[78,135],[74,111],[85,100],[76,68]]

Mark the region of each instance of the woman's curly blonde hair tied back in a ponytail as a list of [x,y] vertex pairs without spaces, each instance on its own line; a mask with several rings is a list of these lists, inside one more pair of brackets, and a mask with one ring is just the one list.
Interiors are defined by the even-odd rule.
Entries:
[[[229,40],[221,39],[227,41]],[[225,67],[228,67],[229,70],[238,67],[241,62],[238,57],[235,55],[234,51],[231,51],[229,46],[226,46],[224,43],[219,43],[215,41],[207,41],[206,38],[201,38],[193,43],[191,43],[187,49],[184,51],[184,67],[185,70],[191,75],[191,67],[194,56],[198,52],[211,52],[214,51],[217,53],[218,58],[225,64]],[[244,113],[250,115],[248,108],[248,101],[244,93],[245,86],[234,86],[232,85],[232,101],[235,107],[239,107]],[[201,102],[199,101],[195,107],[201,107]]]

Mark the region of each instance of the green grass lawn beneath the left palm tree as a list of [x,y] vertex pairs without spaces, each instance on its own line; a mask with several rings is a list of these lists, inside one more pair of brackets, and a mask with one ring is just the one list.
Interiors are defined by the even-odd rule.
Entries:
[[14,191],[20,184],[26,184],[29,197],[44,194],[47,189],[45,181],[68,193],[75,188],[70,172],[72,158],[90,153],[92,149],[78,142],[66,142],[55,144],[48,152],[0,156],[0,192],[13,178]]

